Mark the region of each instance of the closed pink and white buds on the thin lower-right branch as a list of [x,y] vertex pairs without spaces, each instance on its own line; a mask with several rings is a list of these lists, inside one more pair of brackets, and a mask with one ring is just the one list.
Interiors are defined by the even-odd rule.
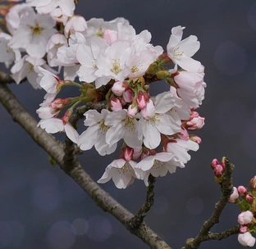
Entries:
[[[223,161],[220,163],[217,159],[213,159],[211,166],[217,183],[222,184],[225,164]],[[238,241],[245,247],[254,247],[256,239],[252,233],[256,233],[256,219],[254,218],[254,215],[256,215],[256,175],[250,180],[249,188],[250,191],[244,186],[233,187],[229,202],[240,206],[241,213],[237,218],[240,224]],[[241,201],[240,198],[242,199]]]

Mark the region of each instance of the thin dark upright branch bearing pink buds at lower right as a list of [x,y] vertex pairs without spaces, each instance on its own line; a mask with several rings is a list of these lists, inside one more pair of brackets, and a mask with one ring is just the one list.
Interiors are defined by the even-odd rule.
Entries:
[[[231,164],[231,161],[229,159],[225,158],[225,173],[223,175],[222,197],[220,201],[217,201],[217,203],[215,204],[215,209],[211,217],[208,220],[204,221],[202,229],[200,230],[196,238],[187,239],[187,241],[185,242],[185,247],[182,247],[182,249],[199,248],[201,242],[210,239],[210,237],[208,236],[209,234],[213,234],[213,233],[209,233],[209,231],[214,224],[217,224],[219,222],[222,211],[226,206],[226,203],[228,202],[229,197],[231,196],[231,193],[233,192],[233,184],[232,184],[232,177],[231,177],[231,173],[233,169],[234,169],[234,165]],[[232,233],[232,234],[235,234],[235,233]]]

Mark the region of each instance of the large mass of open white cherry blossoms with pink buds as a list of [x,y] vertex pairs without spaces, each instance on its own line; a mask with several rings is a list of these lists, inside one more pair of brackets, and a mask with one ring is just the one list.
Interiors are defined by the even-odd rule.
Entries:
[[[124,18],[86,21],[75,16],[73,0],[27,0],[5,13],[7,33],[0,34],[0,61],[11,66],[19,84],[27,79],[47,94],[37,113],[39,126],[66,136],[86,151],[105,156],[121,145],[120,157],[98,183],[113,180],[126,188],[135,179],[148,186],[154,177],[176,172],[197,151],[204,118],[195,111],[204,98],[204,67],[192,57],[198,38],[182,39],[184,27],[171,29],[167,52],[153,46],[151,34]],[[63,74],[63,75],[62,75]],[[79,82],[75,82],[78,78]],[[165,80],[167,92],[150,95],[150,84]],[[79,89],[76,97],[57,97],[62,88]],[[101,112],[85,112],[87,129],[78,134],[70,124],[75,107],[104,102]]]

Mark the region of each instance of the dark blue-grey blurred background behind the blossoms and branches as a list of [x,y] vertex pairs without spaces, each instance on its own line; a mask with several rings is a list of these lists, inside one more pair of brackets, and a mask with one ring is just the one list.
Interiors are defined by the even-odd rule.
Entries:
[[[256,1],[251,0],[80,0],[76,13],[112,20],[123,16],[139,33],[149,29],[154,45],[166,49],[171,28],[185,26],[184,38],[197,35],[201,48],[194,56],[205,66],[206,96],[199,114],[206,118],[197,134],[203,139],[185,169],[156,182],[155,205],[146,223],[172,248],[194,237],[213,212],[221,192],[210,168],[213,158],[231,158],[234,184],[245,185],[255,174],[256,161]],[[10,85],[25,108],[35,110],[43,90],[30,84]],[[167,90],[154,84],[154,93]],[[75,88],[76,90],[76,88]],[[70,92],[75,94],[76,92]],[[48,155],[11,120],[0,106],[0,248],[148,248],[111,215],[103,212],[75,182],[48,163]],[[80,129],[83,122],[80,121]],[[57,134],[64,140],[64,134]],[[79,156],[85,170],[99,179],[118,152],[98,156],[92,149]],[[144,202],[146,188],[135,181],[126,190],[112,181],[103,188],[130,211]],[[228,205],[214,232],[237,224],[238,206]],[[242,248],[237,236],[203,242],[200,248]]]

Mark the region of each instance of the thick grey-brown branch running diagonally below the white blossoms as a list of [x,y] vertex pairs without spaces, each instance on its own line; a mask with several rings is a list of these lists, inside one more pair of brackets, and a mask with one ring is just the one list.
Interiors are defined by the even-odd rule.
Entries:
[[[51,135],[47,134],[43,129],[36,127],[37,121],[25,111],[21,103],[16,99],[15,95],[11,93],[6,84],[0,84],[0,102],[5,106],[7,111],[11,114],[13,120],[19,123],[25,131],[30,134],[30,137],[34,139],[35,143],[38,143],[58,165],[68,174],[81,188],[89,194],[90,197],[100,206],[103,211],[107,211],[112,214],[126,226],[127,220],[130,220],[134,215],[127,211],[125,207],[121,206],[114,198],[112,198],[107,192],[100,188],[89,174],[83,170],[78,161],[64,160],[64,151],[59,145],[57,140]],[[65,163],[66,161],[66,163]],[[68,161],[68,165],[66,166]],[[126,226],[126,229],[129,229]],[[134,233],[142,241],[149,245],[153,249],[171,249],[166,242],[154,233],[144,222],[139,226],[139,229],[129,229],[130,233]]]

